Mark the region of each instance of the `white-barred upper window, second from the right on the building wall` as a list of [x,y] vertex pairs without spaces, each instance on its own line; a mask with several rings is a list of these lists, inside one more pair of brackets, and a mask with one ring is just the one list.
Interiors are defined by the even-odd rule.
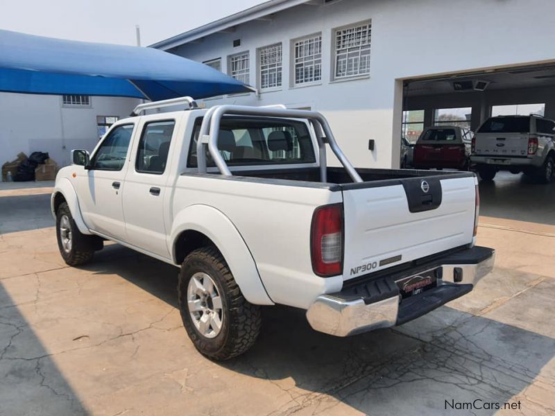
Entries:
[[[311,55],[298,56],[298,49],[309,47],[310,42],[318,44],[318,50]],[[308,87],[309,85],[320,85],[322,83],[322,33],[313,33],[311,35],[298,37],[291,40],[291,87]],[[297,68],[300,67],[303,73],[312,68],[312,80],[302,81],[297,79]],[[316,77],[316,68],[319,67],[319,77]]]

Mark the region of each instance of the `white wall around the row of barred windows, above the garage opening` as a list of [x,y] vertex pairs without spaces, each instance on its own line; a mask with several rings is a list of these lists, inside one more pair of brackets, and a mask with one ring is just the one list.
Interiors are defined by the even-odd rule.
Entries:
[[[174,49],[200,62],[250,51],[250,83],[257,85],[256,50],[282,42],[279,91],[207,101],[311,107],[330,120],[336,139],[356,166],[397,166],[401,135],[402,79],[515,64],[553,62],[555,3],[550,0],[339,0],[302,5],[271,20],[250,21]],[[372,20],[370,76],[332,82],[332,29]],[[529,30],[533,28],[533,30]],[[296,37],[322,33],[321,85],[293,88],[291,45]],[[241,38],[234,49],[232,40]],[[368,150],[375,139],[375,150]]]

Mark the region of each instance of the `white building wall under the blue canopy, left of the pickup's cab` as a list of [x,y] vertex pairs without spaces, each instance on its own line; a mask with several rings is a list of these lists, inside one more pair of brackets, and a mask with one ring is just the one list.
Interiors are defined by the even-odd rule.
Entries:
[[92,150],[99,140],[96,116],[126,117],[136,98],[90,97],[89,107],[63,107],[61,96],[0,93],[0,165],[17,153],[48,152],[58,165],[69,150]]

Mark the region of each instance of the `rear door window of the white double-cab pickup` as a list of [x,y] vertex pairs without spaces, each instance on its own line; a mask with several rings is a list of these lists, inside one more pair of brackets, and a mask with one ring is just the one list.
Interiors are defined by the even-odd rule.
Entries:
[[174,120],[153,121],[144,125],[135,160],[137,172],[164,173],[175,125]]

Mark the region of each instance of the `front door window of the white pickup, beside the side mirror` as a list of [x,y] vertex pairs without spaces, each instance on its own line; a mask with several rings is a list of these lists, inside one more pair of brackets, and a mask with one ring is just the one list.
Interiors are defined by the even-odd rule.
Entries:
[[92,168],[101,171],[121,171],[126,162],[132,134],[133,124],[118,125],[110,131],[92,157]]

